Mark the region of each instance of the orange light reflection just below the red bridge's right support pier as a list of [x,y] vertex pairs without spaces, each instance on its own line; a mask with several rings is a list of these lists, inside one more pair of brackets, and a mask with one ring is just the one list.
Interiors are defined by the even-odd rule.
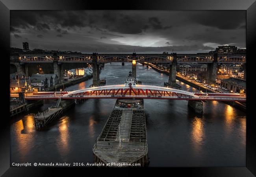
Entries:
[[195,151],[200,152],[204,142],[204,122],[201,118],[193,119],[191,136]]

